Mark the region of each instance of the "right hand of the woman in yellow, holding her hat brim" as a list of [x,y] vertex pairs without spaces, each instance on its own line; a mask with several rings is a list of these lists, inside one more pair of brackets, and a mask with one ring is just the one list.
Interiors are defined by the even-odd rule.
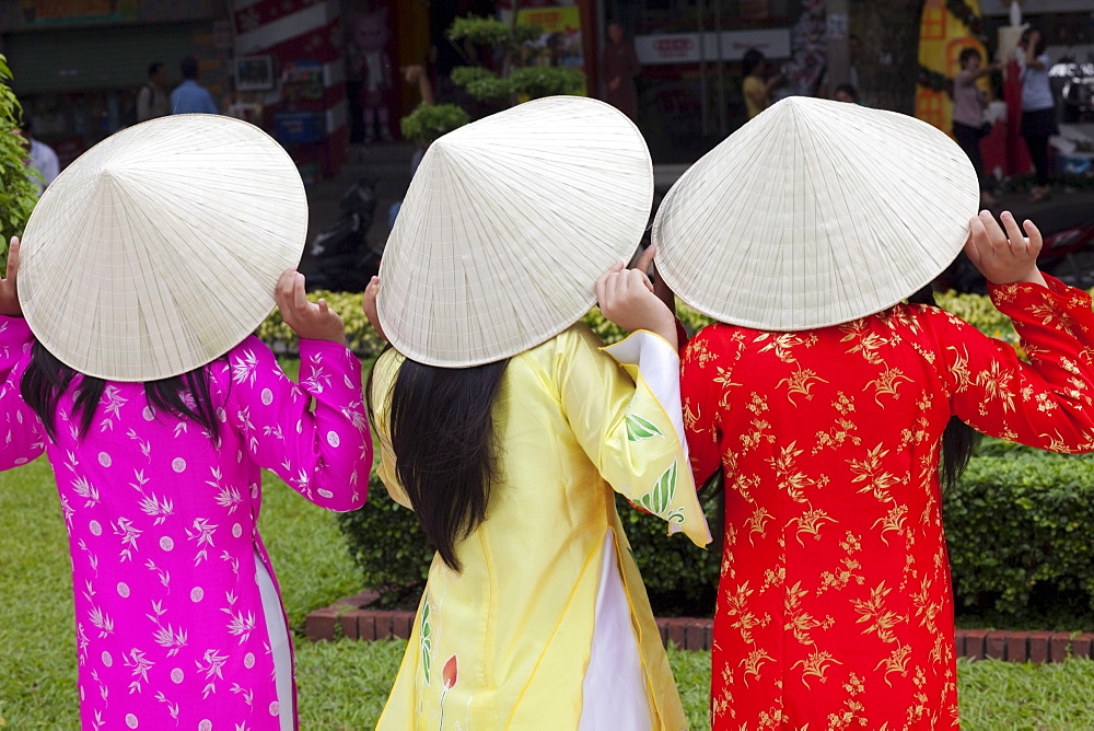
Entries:
[[653,285],[645,276],[655,253],[656,248],[650,246],[633,269],[625,269],[621,262],[613,266],[596,280],[596,301],[604,316],[622,329],[630,333],[650,330],[678,348],[676,318],[654,294]]

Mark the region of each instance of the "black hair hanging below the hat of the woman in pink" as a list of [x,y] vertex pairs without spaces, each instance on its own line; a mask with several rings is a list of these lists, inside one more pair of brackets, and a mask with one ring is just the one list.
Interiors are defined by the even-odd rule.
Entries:
[[[38,415],[46,433],[54,441],[57,441],[57,404],[78,375],[82,380],[73,401],[72,418],[78,420],[80,437],[83,437],[91,429],[95,409],[106,391],[106,381],[83,375],[58,360],[40,343],[34,343],[31,362],[19,385],[23,401]],[[146,381],[144,397],[153,411],[193,421],[216,439],[217,413],[209,396],[209,382],[203,368],[170,379]]]

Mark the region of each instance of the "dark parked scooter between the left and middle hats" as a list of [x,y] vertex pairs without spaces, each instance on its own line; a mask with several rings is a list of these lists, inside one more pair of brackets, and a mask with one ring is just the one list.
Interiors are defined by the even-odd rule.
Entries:
[[379,274],[384,243],[370,245],[366,239],[376,211],[375,186],[371,178],[351,185],[338,202],[338,218],[312,240],[309,254],[315,265],[309,290],[361,292]]

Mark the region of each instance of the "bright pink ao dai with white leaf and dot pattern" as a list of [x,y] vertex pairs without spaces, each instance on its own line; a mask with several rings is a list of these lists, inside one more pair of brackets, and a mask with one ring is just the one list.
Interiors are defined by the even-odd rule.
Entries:
[[294,728],[287,622],[257,527],[259,467],[324,508],[364,503],[372,442],[358,359],[303,340],[298,386],[248,337],[206,367],[219,445],[153,414],[143,384],[118,382],[83,438],[66,394],[54,443],[20,395],[31,343],[22,320],[0,317],[0,469],[45,451],[57,477],[82,727]]

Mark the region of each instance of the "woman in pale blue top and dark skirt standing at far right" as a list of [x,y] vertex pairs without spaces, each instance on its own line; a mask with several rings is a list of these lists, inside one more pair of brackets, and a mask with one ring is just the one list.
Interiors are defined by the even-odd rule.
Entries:
[[1052,188],[1048,184],[1048,138],[1059,135],[1056,124],[1056,100],[1048,81],[1048,54],[1045,36],[1037,28],[1026,28],[1019,40],[1019,63],[1022,67],[1022,138],[1026,141],[1029,158],[1037,173],[1037,185],[1029,192],[1029,200],[1048,198]]

